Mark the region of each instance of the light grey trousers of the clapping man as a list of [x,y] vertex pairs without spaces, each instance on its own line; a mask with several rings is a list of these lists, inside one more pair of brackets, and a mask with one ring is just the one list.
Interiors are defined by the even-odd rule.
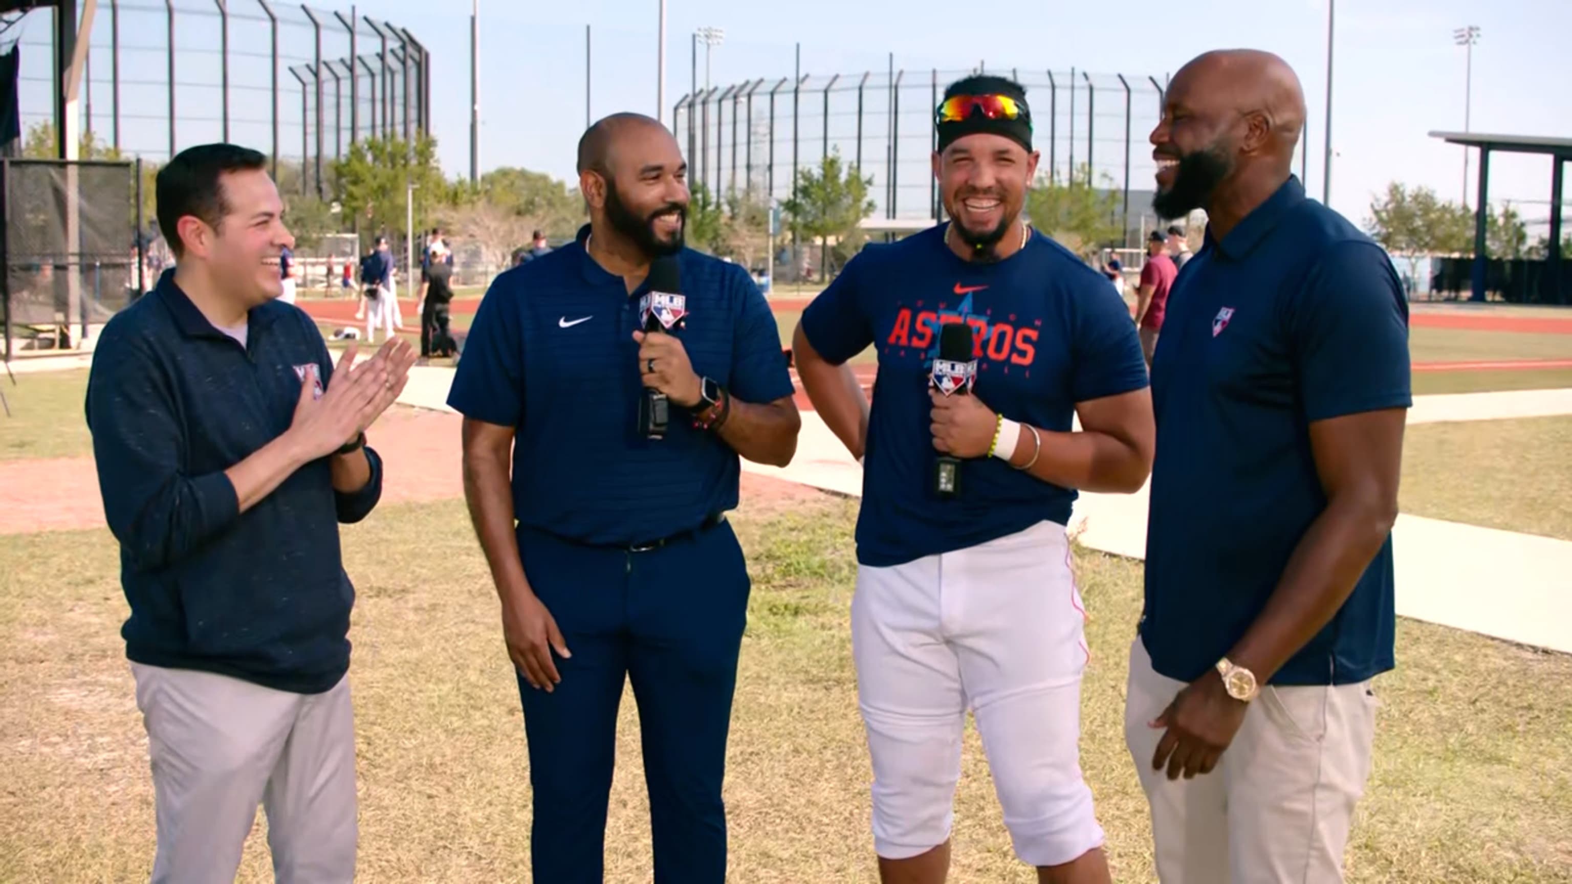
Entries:
[[130,664],[157,813],[154,884],[234,881],[256,805],[278,882],[355,876],[355,735],[347,676],[324,694]]

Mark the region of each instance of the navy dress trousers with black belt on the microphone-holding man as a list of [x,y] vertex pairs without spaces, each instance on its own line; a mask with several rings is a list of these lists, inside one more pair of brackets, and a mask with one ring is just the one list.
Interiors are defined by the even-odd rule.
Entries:
[[643,736],[656,884],[722,884],[722,780],[751,588],[731,524],[654,549],[582,546],[520,527],[519,554],[571,657],[549,694],[519,676],[533,878],[599,884],[624,680]]

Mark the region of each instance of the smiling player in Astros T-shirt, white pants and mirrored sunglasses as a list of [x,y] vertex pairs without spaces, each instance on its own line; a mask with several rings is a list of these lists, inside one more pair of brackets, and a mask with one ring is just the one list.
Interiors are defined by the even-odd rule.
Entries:
[[[887,882],[945,879],[971,709],[1016,856],[1039,881],[1104,882],[1066,524],[1075,489],[1146,480],[1146,362],[1108,280],[1022,219],[1038,153],[1020,85],[970,77],[935,113],[953,220],[852,258],[792,351],[817,414],[865,459],[852,650],[874,851]],[[954,322],[973,332],[960,366],[938,346]],[[869,346],[872,406],[846,365]],[[970,395],[931,390],[931,376],[968,376]],[[940,455],[959,459],[953,495]]]

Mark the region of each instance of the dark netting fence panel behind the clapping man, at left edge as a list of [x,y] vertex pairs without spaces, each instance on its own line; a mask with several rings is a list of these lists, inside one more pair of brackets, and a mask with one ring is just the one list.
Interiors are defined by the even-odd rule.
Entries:
[[77,338],[130,304],[140,291],[132,164],[16,159],[3,178],[14,340]]

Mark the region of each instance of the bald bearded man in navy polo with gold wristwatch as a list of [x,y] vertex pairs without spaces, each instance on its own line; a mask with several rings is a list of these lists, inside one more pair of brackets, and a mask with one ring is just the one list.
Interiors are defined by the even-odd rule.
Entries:
[[1154,208],[1209,223],[1152,362],[1126,739],[1165,884],[1341,881],[1393,669],[1407,302],[1291,173],[1305,99],[1281,58],[1209,52],[1163,101]]

